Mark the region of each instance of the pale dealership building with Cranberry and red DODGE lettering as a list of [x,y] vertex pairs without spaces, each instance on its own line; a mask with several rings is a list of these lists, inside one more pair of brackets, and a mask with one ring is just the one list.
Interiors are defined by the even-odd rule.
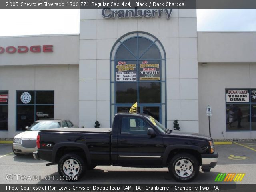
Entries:
[[[256,32],[197,31],[196,9],[80,10],[80,34],[0,37],[0,138],[40,118],[256,138]],[[207,107],[208,106],[208,107]],[[39,115],[40,114],[40,115]]]

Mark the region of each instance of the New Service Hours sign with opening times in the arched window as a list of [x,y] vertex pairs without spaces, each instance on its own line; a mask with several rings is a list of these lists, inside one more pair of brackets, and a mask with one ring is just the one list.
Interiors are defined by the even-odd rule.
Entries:
[[136,64],[118,61],[116,64],[116,81],[136,81]]

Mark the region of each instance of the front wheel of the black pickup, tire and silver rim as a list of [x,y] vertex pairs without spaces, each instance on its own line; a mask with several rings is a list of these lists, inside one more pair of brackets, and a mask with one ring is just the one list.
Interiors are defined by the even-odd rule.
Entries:
[[176,154],[169,164],[169,172],[178,182],[190,182],[199,172],[198,160],[191,154]]

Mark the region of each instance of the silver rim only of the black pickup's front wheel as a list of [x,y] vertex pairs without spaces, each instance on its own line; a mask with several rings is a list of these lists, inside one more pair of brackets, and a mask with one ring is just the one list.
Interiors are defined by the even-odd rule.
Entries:
[[175,172],[180,177],[188,177],[193,172],[193,164],[187,159],[178,160],[175,164]]

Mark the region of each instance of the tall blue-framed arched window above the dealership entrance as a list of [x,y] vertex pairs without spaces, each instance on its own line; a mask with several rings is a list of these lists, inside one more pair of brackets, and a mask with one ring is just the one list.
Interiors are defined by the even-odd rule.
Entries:
[[110,123],[138,102],[138,113],[166,125],[166,54],[157,38],[145,32],[119,38],[110,53],[110,77]]

